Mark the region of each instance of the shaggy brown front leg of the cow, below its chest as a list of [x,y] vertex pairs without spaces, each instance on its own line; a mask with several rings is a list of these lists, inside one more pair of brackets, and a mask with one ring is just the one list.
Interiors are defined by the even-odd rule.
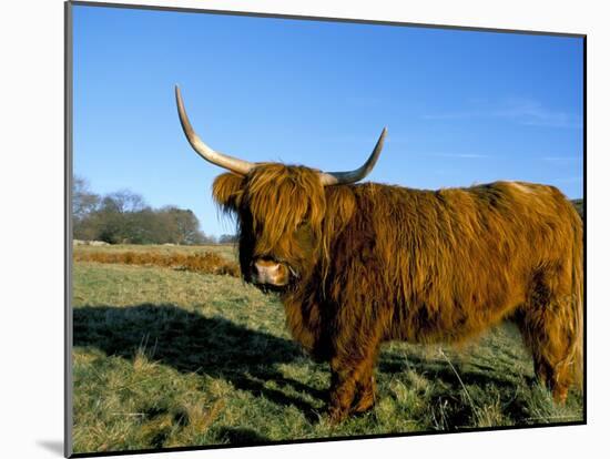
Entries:
[[373,370],[379,339],[369,337],[345,346],[345,351],[331,360],[332,384],[328,415],[333,424],[344,420],[350,410],[363,412],[373,406]]

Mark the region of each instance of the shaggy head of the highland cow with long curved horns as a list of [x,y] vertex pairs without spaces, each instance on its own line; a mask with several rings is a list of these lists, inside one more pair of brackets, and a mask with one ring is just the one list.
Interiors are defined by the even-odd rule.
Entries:
[[176,86],[182,128],[193,149],[206,161],[228,170],[214,181],[214,200],[237,216],[240,264],[247,282],[283,289],[307,278],[324,255],[325,232],[336,231],[352,216],[355,202],[346,187],[374,167],[386,135],[382,132],[364,165],[348,172],[321,172],[279,163],[251,163],[212,150],[194,132]]

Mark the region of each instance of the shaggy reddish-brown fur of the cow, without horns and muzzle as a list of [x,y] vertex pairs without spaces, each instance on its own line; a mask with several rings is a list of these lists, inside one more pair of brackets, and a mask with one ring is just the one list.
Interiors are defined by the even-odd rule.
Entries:
[[507,318],[556,400],[580,382],[582,223],[557,188],[323,187],[270,163],[220,175],[213,194],[238,216],[246,280],[256,258],[291,268],[287,325],[331,363],[333,421],[373,406],[383,341],[459,343]]

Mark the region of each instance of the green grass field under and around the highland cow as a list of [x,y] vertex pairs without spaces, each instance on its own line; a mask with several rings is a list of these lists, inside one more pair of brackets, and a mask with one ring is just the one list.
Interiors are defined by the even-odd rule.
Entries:
[[[215,252],[231,246],[78,247]],[[74,452],[258,443],[582,419],[535,384],[510,324],[460,349],[383,348],[375,408],[331,426],[331,374],[291,339],[284,312],[228,275],[77,262],[73,268]]]

